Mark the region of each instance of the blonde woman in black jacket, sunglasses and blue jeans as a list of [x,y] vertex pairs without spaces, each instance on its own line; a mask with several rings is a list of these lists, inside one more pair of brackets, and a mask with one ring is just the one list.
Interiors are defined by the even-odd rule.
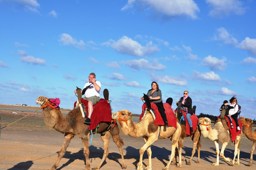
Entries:
[[[190,116],[193,115],[193,109],[192,109],[192,99],[188,96],[188,91],[184,91],[183,97],[181,97],[182,104],[181,104],[181,110],[183,110],[186,113],[187,121],[190,127],[190,132],[193,133],[193,127],[192,127],[192,121]],[[178,106],[177,101],[177,106]]]

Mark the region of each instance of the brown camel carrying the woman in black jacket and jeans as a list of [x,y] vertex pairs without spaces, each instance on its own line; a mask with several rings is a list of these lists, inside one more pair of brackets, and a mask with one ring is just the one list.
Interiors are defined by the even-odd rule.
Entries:
[[[178,114],[176,114],[176,119],[177,119],[177,122],[179,123],[180,120],[178,118]],[[191,139],[193,141],[192,155],[191,155],[189,161],[186,164],[191,165],[192,158],[193,158],[194,154],[196,153],[196,148],[197,148],[197,153],[198,153],[198,159],[195,163],[200,163],[200,148],[201,148],[201,140],[200,140],[201,132],[200,132],[200,129],[197,126],[195,131],[191,135],[188,135],[186,133],[186,125],[180,125],[180,126],[181,126],[180,142],[183,143],[185,138],[189,137],[189,136],[191,137]],[[176,158],[176,156],[175,156],[175,158]],[[183,161],[185,160],[184,156],[182,156],[181,160],[183,160]],[[175,160],[174,160],[174,163],[176,163]]]

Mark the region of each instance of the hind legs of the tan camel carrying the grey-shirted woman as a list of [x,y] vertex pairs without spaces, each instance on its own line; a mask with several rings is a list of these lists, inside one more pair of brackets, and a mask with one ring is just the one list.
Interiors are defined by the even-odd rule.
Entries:
[[[176,131],[178,131],[178,130],[176,130]],[[178,146],[180,136],[178,136],[178,138],[174,137],[174,136],[176,136],[175,132],[174,132],[174,134],[172,136],[172,139],[171,139],[172,140],[172,152],[171,152],[171,155],[170,155],[170,160],[169,160],[169,163],[163,168],[163,170],[168,170],[169,169],[169,166],[170,166],[170,164],[171,164],[171,162],[172,162],[172,160],[175,156],[176,147],[178,147],[178,153],[179,153],[179,163],[176,167],[181,168],[181,151],[182,151],[182,148],[180,146]]]

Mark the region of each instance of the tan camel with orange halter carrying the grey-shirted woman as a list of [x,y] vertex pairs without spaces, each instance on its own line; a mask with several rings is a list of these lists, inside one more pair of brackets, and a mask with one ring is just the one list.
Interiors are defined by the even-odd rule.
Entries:
[[[163,170],[168,170],[169,165],[171,163],[171,160],[174,158],[175,154],[175,148],[178,147],[179,151],[179,158],[181,158],[181,148],[182,145],[178,145],[180,133],[181,133],[181,127],[179,123],[177,123],[177,129],[174,127],[168,127],[165,126],[159,126],[154,125],[154,120],[152,118],[152,115],[149,111],[146,111],[144,113],[145,116],[140,120],[139,123],[134,124],[132,118],[132,113],[130,113],[128,110],[122,110],[121,112],[115,112],[112,114],[112,119],[116,119],[119,121],[121,125],[121,131],[124,135],[130,135],[135,138],[143,137],[145,144],[140,148],[140,161],[137,164],[137,170],[142,170],[142,156],[145,150],[147,149],[148,154],[148,166],[145,167],[145,170],[151,170],[152,169],[152,163],[151,163],[151,144],[154,143],[157,139],[165,139],[165,138],[171,138],[172,141],[172,151],[170,156],[170,161],[166,165]],[[177,167],[181,167],[181,159],[179,160],[179,163]]]

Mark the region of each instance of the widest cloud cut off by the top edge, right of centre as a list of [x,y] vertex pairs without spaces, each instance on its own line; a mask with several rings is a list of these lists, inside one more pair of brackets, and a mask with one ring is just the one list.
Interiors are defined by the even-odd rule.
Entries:
[[185,15],[193,19],[197,18],[200,11],[193,0],[128,0],[122,11],[138,6],[167,17]]

